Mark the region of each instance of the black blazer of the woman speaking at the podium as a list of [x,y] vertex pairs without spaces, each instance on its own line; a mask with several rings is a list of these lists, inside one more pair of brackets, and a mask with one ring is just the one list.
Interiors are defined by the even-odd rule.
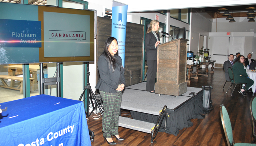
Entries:
[[[158,34],[157,37],[160,41]],[[155,48],[155,42],[157,42],[157,38],[155,38],[153,32],[147,33],[145,37],[145,60],[157,60],[157,47]]]

